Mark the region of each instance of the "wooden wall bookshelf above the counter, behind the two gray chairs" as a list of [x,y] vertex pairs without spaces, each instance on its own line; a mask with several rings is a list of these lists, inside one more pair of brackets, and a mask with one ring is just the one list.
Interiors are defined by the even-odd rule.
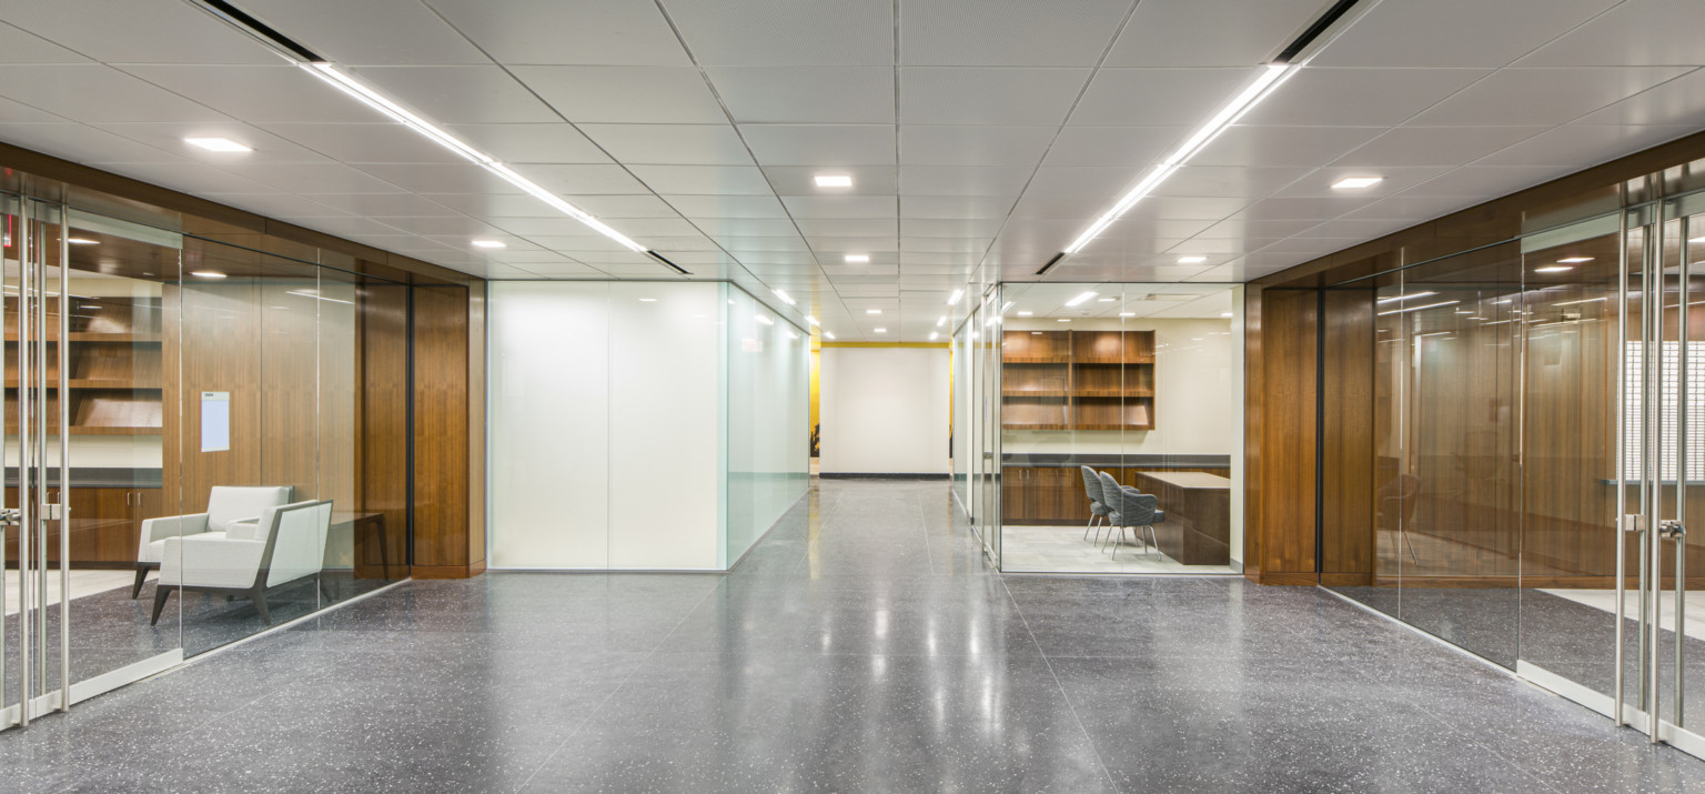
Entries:
[[1001,427],[1153,430],[1154,331],[1006,331]]

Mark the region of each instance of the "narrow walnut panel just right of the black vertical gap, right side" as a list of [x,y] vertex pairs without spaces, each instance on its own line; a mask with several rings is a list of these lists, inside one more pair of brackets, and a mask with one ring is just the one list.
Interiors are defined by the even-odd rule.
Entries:
[[1326,290],[1321,574],[1374,570],[1374,292]]

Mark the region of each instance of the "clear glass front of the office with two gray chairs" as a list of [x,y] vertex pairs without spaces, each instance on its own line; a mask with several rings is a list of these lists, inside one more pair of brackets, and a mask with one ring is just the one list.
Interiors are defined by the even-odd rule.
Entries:
[[1001,570],[1240,572],[1241,285],[1004,283],[985,309]]

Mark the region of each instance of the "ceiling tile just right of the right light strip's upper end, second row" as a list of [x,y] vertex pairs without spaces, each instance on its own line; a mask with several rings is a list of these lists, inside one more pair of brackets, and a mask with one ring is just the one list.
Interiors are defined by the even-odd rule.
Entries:
[[1257,126],[1396,126],[1487,72],[1303,67],[1241,121]]

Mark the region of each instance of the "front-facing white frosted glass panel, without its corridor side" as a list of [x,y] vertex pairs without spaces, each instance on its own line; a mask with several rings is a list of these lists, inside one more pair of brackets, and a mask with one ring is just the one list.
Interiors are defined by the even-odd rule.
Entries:
[[720,567],[723,289],[491,283],[493,569]]

